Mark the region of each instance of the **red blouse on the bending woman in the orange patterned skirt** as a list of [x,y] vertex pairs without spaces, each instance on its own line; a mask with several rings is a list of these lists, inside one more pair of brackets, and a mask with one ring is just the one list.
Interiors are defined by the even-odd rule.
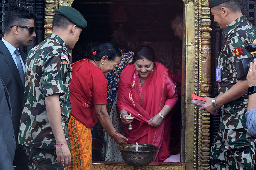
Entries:
[[94,104],[107,104],[107,80],[103,72],[89,61],[82,59],[71,64],[72,82],[69,87],[71,115],[86,128],[96,124]]

